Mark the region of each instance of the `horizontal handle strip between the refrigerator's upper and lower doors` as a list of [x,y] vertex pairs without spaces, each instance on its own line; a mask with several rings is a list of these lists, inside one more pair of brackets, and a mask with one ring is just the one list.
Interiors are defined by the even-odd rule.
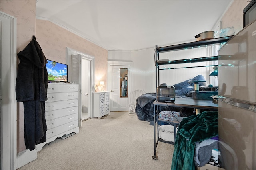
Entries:
[[242,109],[249,109],[251,111],[256,112],[256,104],[254,105],[251,103],[241,102],[241,101],[229,99],[229,98],[219,98],[219,100],[221,100],[222,102],[225,102],[227,104],[231,104],[233,106],[240,107]]

